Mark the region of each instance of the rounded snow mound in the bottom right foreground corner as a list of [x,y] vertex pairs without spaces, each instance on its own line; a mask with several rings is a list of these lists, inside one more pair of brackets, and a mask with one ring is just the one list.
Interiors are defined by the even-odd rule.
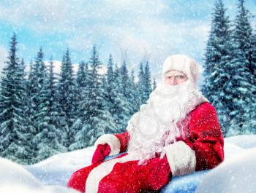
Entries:
[[256,148],[237,154],[211,170],[197,186],[197,193],[240,193],[256,190]]

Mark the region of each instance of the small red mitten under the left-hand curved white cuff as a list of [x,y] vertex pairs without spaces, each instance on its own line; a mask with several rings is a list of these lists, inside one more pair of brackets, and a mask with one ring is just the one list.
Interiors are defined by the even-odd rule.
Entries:
[[110,146],[105,144],[99,144],[97,149],[94,151],[94,155],[91,159],[91,164],[103,162],[105,157],[110,154]]

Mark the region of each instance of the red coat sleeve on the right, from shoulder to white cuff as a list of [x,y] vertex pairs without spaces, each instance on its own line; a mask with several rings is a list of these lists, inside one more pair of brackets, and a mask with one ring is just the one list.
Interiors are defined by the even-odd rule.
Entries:
[[191,113],[189,139],[195,151],[195,170],[211,169],[224,160],[224,141],[217,112],[210,103],[203,103]]

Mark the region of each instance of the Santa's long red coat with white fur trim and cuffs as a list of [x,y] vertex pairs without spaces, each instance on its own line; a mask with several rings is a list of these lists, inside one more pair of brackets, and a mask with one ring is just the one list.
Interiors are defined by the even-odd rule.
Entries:
[[[76,171],[67,186],[86,193],[138,193],[162,189],[173,176],[216,167],[224,160],[224,141],[214,106],[201,103],[189,116],[189,135],[165,146],[164,158],[138,165],[129,154],[121,154]],[[95,146],[108,143],[113,155],[126,151],[128,142],[128,132],[106,134],[97,139]]]

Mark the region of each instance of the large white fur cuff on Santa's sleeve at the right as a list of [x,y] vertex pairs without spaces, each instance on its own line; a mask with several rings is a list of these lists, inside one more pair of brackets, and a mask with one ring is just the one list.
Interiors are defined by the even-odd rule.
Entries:
[[186,175],[195,171],[195,151],[184,141],[170,144],[164,149],[173,176]]

